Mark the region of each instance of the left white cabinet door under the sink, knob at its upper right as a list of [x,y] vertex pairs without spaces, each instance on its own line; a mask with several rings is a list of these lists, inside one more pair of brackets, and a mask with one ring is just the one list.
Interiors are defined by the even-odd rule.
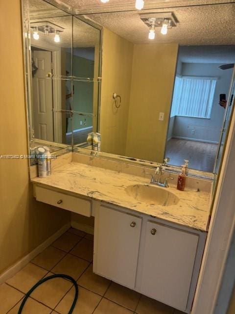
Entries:
[[100,206],[95,214],[94,272],[135,287],[141,218]]

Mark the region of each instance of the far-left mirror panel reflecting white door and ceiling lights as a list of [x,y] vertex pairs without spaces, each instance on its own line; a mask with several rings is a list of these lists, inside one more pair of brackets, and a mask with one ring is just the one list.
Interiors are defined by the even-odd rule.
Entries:
[[[66,137],[68,81],[71,60],[72,17],[46,17],[30,20],[32,58],[32,126],[36,139],[71,144]],[[61,79],[63,78],[63,79]]]

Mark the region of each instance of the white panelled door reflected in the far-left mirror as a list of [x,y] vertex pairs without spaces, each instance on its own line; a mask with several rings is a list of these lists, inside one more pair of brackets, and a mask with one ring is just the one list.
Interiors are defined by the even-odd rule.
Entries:
[[38,68],[32,78],[34,134],[36,138],[53,142],[53,90],[52,80],[47,79],[47,74],[52,72],[51,52],[33,51],[32,55]]

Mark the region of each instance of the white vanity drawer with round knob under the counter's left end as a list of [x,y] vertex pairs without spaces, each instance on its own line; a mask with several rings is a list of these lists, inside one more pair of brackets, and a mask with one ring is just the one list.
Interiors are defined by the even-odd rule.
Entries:
[[44,187],[35,187],[36,200],[62,209],[90,217],[92,202],[80,197],[74,197],[60,192],[55,192]]

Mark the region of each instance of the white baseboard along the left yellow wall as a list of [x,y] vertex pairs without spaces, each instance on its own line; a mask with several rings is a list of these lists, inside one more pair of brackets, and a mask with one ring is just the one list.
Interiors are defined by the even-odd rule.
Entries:
[[58,237],[63,235],[68,229],[71,228],[71,223],[68,222],[66,225],[61,227],[56,233],[51,235],[46,241],[37,246],[33,251],[24,256],[21,260],[16,262],[14,265],[9,267],[6,271],[0,274],[0,284],[4,283],[7,279],[14,276],[18,271],[20,271],[28,262],[34,259],[39,253],[47,248],[51,243],[53,243]]

